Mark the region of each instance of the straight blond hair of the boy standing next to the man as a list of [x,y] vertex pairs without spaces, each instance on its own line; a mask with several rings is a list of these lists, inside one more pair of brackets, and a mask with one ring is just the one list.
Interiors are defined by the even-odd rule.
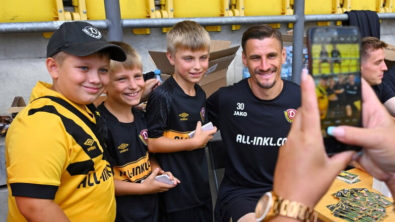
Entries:
[[177,49],[192,52],[210,50],[210,35],[201,25],[185,20],[176,23],[166,34],[167,52],[174,56]]

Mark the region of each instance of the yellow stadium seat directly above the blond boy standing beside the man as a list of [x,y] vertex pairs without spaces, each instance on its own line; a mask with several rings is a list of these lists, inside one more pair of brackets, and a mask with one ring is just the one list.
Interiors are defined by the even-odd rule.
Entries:
[[[162,18],[228,17],[229,0],[160,0]],[[207,31],[221,31],[221,26],[206,26]],[[164,30],[164,32],[168,31]]]

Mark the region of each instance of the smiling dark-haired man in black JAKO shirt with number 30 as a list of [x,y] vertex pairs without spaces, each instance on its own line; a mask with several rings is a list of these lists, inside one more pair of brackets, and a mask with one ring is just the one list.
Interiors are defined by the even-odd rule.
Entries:
[[300,87],[280,78],[286,51],[278,30],[254,25],[244,32],[241,46],[251,77],[220,88],[207,100],[227,151],[216,221],[255,221],[255,205],[272,190],[279,147],[301,102]]

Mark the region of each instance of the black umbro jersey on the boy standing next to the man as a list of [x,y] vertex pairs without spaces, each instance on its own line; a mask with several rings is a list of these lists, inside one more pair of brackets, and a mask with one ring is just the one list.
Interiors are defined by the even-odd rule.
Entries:
[[[195,91],[195,96],[185,94],[173,77],[153,91],[146,110],[149,139],[161,136],[188,139],[188,133],[196,128],[198,121],[202,125],[209,122],[206,93],[197,84]],[[163,170],[170,171],[181,181],[175,188],[160,194],[166,212],[180,211],[211,201],[205,149],[157,153],[156,158]]]

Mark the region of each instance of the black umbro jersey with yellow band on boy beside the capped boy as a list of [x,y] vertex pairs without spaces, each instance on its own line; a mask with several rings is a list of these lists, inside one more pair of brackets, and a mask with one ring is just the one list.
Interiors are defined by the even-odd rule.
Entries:
[[[98,110],[106,132],[108,153],[112,159],[114,179],[141,183],[152,170],[147,149],[147,123],[144,112],[132,108],[134,122],[124,123],[102,103]],[[152,154],[151,154],[152,155]],[[115,221],[159,221],[158,194],[116,196]]]

